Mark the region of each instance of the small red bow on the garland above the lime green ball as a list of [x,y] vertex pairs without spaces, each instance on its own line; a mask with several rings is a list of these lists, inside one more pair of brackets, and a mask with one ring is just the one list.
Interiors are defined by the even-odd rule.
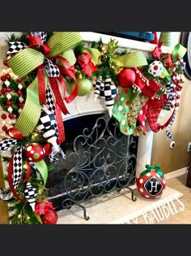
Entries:
[[99,68],[91,62],[91,54],[83,53],[77,58],[80,66],[83,67],[82,72],[92,78],[92,72],[96,72]]

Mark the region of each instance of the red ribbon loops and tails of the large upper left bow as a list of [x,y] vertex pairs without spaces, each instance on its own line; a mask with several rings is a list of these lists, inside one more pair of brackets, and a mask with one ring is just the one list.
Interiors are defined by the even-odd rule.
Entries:
[[[50,53],[50,48],[48,45],[44,45],[43,42],[41,41],[40,37],[37,36],[31,36],[28,34],[28,39],[29,39],[29,47],[34,48],[36,50],[39,50],[43,54],[48,55]],[[60,76],[57,77],[49,77],[49,83],[51,86],[51,89],[53,90],[53,94],[55,97],[55,115],[57,119],[57,131],[58,131],[58,141],[59,143],[62,143],[62,141],[65,140],[65,131],[63,127],[63,120],[62,120],[62,113],[64,115],[70,114],[69,111],[66,108],[65,102],[63,100],[66,100],[67,103],[70,103],[76,98],[78,95],[78,85],[76,83],[73,92],[70,94],[69,97],[66,98],[66,85],[65,81],[62,77],[62,74],[65,74],[66,76],[70,76],[71,78],[74,79],[76,82],[76,78],[74,76],[74,66],[71,66],[70,63],[63,58],[62,56],[56,56],[49,58],[49,60],[59,60],[62,63],[64,63],[65,67],[62,65],[57,65],[57,67],[60,69]],[[37,78],[38,78],[38,91],[39,91],[39,102],[40,104],[46,104],[46,85],[45,85],[45,72],[44,72],[44,64],[40,65],[37,68]],[[63,96],[60,93],[59,85],[62,86],[63,89]],[[61,113],[62,111],[62,113]]]

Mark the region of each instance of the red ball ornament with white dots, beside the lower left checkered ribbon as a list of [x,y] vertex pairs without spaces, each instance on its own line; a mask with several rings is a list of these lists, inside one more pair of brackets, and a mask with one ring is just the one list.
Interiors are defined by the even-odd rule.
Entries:
[[45,149],[39,143],[28,144],[25,152],[28,160],[32,162],[39,162],[45,158]]

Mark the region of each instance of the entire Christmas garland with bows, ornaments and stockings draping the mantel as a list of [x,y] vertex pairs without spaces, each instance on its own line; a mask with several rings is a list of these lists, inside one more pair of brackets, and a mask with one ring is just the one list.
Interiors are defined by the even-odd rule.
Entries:
[[[75,32],[13,34],[7,45],[0,153],[11,153],[11,158],[3,157],[10,188],[1,188],[0,198],[8,203],[11,223],[57,223],[57,211],[44,191],[52,164],[66,158],[60,146],[65,141],[62,115],[70,114],[67,104],[91,89],[95,100],[104,99],[108,115],[125,135],[146,134],[147,119],[154,132],[167,128],[172,141],[169,128],[180,104],[184,47],[177,45],[173,54],[164,55],[160,44],[146,59],[142,52],[120,52],[112,39],[108,45],[100,40],[87,47]],[[168,123],[156,124],[159,112],[172,107]]]

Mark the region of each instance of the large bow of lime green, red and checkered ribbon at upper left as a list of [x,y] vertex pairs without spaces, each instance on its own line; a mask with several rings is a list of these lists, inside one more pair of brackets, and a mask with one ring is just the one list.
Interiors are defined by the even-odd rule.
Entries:
[[[23,107],[22,113],[19,115],[19,119],[15,124],[15,128],[18,129],[23,136],[28,136],[34,128],[40,118],[40,104],[46,104],[45,89],[47,85],[50,85],[54,94],[54,102],[56,105],[56,118],[57,123],[61,124],[61,112],[66,115],[69,112],[66,109],[64,100],[71,102],[77,96],[77,85],[74,88],[73,93],[66,98],[65,94],[62,96],[60,93],[60,87],[62,86],[63,93],[66,92],[65,82],[61,75],[60,66],[57,65],[57,61],[62,63],[62,71],[66,70],[74,63],[68,63],[67,59],[74,59],[73,48],[76,46],[82,38],[79,33],[53,33],[53,36],[46,41],[47,34],[43,32],[34,32],[28,35],[29,47],[19,50],[11,59],[7,61],[12,71],[20,78],[27,76],[32,71],[37,71],[36,78],[32,81],[32,84],[28,86],[27,98]],[[46,44],[45,44],[46,42]],[[59,47],[58,47],[59,46]],[[7,52],[10,53],[11,50]],[[69,54],[66,54],[69,53]],[[67,59],[63,57],[67,55]],[[74,76],[72,76],[74,78]],[[32,110],[32,111],[31,111]],[[28,119],[28,113],[30,113],[30,119]],[[26,119],[28,122],[26,123]],[[63,140],[63,129],[58,128],[59,142]]]

